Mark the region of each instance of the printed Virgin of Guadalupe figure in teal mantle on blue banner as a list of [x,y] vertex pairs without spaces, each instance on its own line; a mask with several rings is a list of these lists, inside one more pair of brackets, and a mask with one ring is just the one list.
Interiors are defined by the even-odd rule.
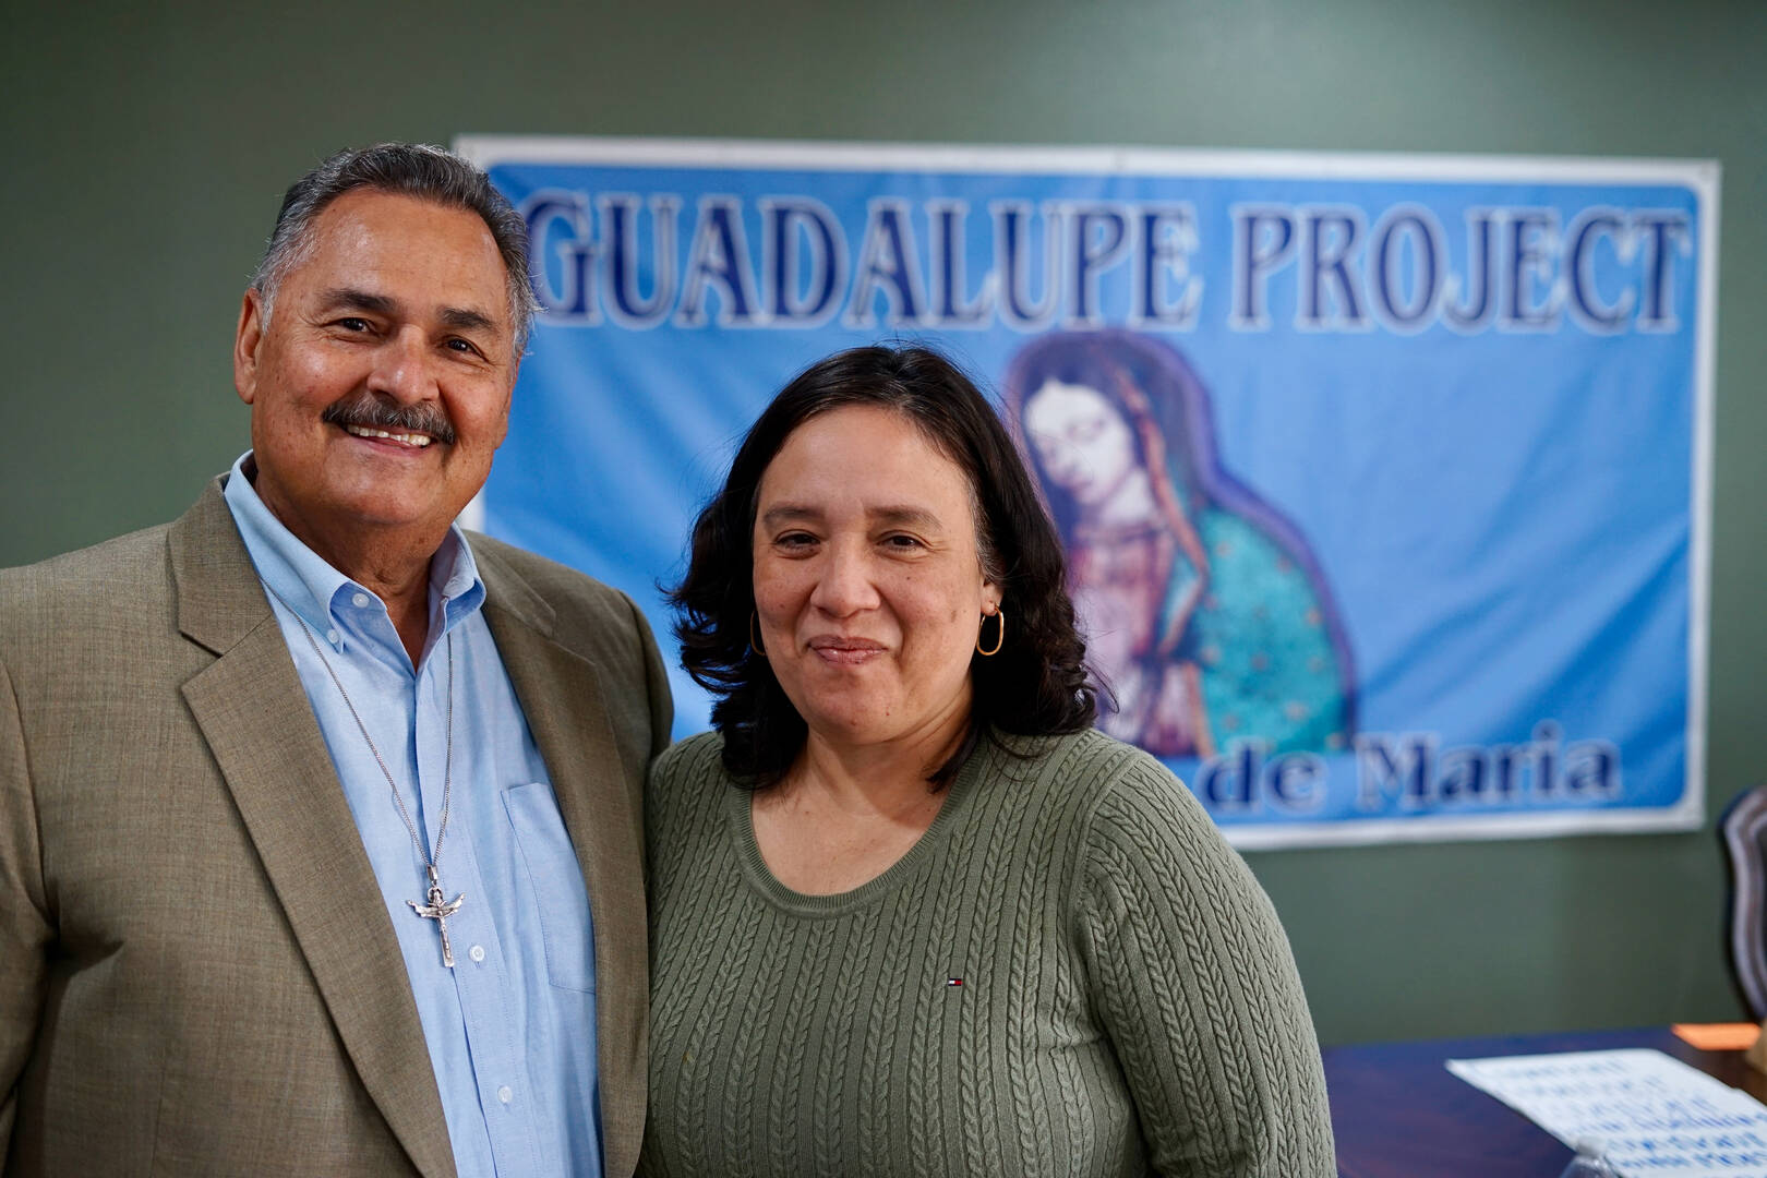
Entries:
[[1067,546],[1099,728],[1156,756],[1346,749],[1355,678],[1301,532],[1216,461],[1209,394],[1168,344],[1050,334],[1007,420]]

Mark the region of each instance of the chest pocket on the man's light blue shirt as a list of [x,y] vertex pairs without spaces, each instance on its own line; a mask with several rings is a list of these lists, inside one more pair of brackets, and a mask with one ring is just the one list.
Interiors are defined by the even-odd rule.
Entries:
[[592,994],[595,936],[588,915],[588,890],[551,786],[532,781],[504,789],[504,811],[516,832],[521,865],[534,888],[534,911],[546,950],[546,980],[558,989]]

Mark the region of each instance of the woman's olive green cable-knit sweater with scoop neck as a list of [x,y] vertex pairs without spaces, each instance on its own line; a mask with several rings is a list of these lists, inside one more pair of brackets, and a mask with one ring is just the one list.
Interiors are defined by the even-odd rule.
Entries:
[[1005,740],[841,895],[769,874],[716,735],[663,754],[643,1174],[1336,1173],[1288,941],[1202,805],[1096,731]]

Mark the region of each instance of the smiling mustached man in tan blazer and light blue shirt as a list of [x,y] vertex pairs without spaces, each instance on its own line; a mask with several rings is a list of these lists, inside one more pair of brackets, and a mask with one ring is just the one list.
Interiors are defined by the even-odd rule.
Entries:
[[472,164],[283,203],[253,449],[177,523],[0,572],[7,1174],[629,1174],[640,788],[624,595],[454,517],[532,298]]

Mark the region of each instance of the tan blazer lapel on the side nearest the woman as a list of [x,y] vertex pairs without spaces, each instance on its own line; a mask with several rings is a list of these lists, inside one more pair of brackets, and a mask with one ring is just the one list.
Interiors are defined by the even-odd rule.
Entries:
[[[484,618],[516,687],[528,729],[551,774],[558,814],[576,848],[595,934],[595,1026],[603,1106],[603,1164],[627,1174],[640,1141],[610,1116],[608,1077],[645,1074],[645,1010],[650,1001],[641,832],[622,781],[601,675],[553,641],[553,609],[518,574],[479,556]],[[641,1107],[641,1106],[640,1106]]]

